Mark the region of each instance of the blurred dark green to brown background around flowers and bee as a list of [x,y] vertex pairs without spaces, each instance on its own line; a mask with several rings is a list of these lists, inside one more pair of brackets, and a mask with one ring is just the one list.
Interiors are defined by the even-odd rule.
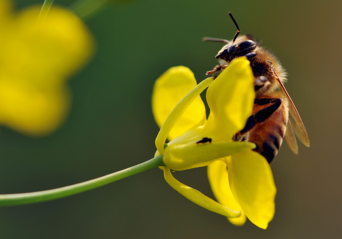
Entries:
[[[68,6],[71,0],[55,0]],[[43,0],[16,0],[16,9]],[[285,85],[310,137],[294,155],[286,143],[272,163],[276,213],[268,229],[236,227],[185,199],[158,168],[89,192],[0,208],[0,238],[341,238],[342,3],[321,1],[113,1],[86,20],[96,54],[69,86],[73,103],[55,133],[32,138],[1,127],[0,193],[57,188],[153,157],[158,127],[155,79],[185,65],[198,81],[236,29],[271,49],[288,71]],[[206,169],[175,177],[213,197]]]

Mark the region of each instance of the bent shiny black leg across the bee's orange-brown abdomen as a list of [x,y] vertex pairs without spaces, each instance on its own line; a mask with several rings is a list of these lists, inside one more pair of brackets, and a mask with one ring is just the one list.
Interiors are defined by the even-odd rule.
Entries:
[[255,126],[255,124],[265,121],[268,117],[270,117],[274,113],[274,111],[276,111],[279,108],[281,103],[282,103],[282,99],[280,98],[255,99],[254,104],[257,104],[257,105],[271,104],[271,105],[263,108],[262,110],[258,111],[254,115],[251,115],[247,119],[245,128],[242,129],[237,134],[235,134],[235,136],[233,137],[233,140],[238,141],[239,139],[241,139],[241,136],[247,133],[248,131],[250,131]]

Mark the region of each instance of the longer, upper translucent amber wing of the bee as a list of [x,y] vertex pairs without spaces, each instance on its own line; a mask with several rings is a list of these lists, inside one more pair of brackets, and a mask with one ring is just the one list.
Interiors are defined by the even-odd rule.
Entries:
[[[289,99],[289,106],[290,106],[290,119],[289,121],[291,121],[293,126],[293,131],[294,133],[297,135],[298,139],[306,146],[306,147],[310,147],[310,142],[309,142],[309,136],[307,135],[306,129],[304,127],[303,121],[300,118],[298,111],[296,109],[296,107],[294,106],[289,94],[287,93],[284,85],[281,83],[279,77],[277,77],[278,83],[280,85],[281,91],[285,93],[285,95],[287,96],[287,98]],[[293,150],[292,150],[293,151]]]

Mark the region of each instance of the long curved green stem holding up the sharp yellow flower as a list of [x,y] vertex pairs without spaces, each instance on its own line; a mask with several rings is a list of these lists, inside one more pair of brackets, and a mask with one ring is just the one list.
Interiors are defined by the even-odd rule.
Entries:
[[57,198],[74,195],[94,188],[98,188],[108,183],[117,181],[122,178],[126,178],[128,176],[132,176],[134,174],[158,166],[165,166],[165,164],[163,163],[163,155],[161,154],[144,163],[137,164],[135,166],[117,171],[115,173],[108,174],[100,178],[95,178],[86,182],[65,186],[62,188],[32,193],[0,194],[0,206],[39,203],[43,201],[49,201]]

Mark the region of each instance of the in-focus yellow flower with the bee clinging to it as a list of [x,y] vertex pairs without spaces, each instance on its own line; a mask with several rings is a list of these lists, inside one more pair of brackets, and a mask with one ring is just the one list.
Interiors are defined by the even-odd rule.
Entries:
[[[227,216],[235,225],[243,225],[247,215],[252,223],[265,229],[275,209],[271,168],[262,155],[251,150],[254,144],[232,140],[252,113],[253,79],[245,57],[232,61],[215,80],[207,78],[197,86],[193,73],[177,66],[157,79],[152,109],[161,127],[156,155],[163,154],[166,181],[194,203]],[[208,120],[199,96],[206,87],[211,110]],[[164,148],[166,138],[170,142]],[[207,165],[219,205],[170,173],[170,169]],[[222,207],[229,212],[222,212]]]

